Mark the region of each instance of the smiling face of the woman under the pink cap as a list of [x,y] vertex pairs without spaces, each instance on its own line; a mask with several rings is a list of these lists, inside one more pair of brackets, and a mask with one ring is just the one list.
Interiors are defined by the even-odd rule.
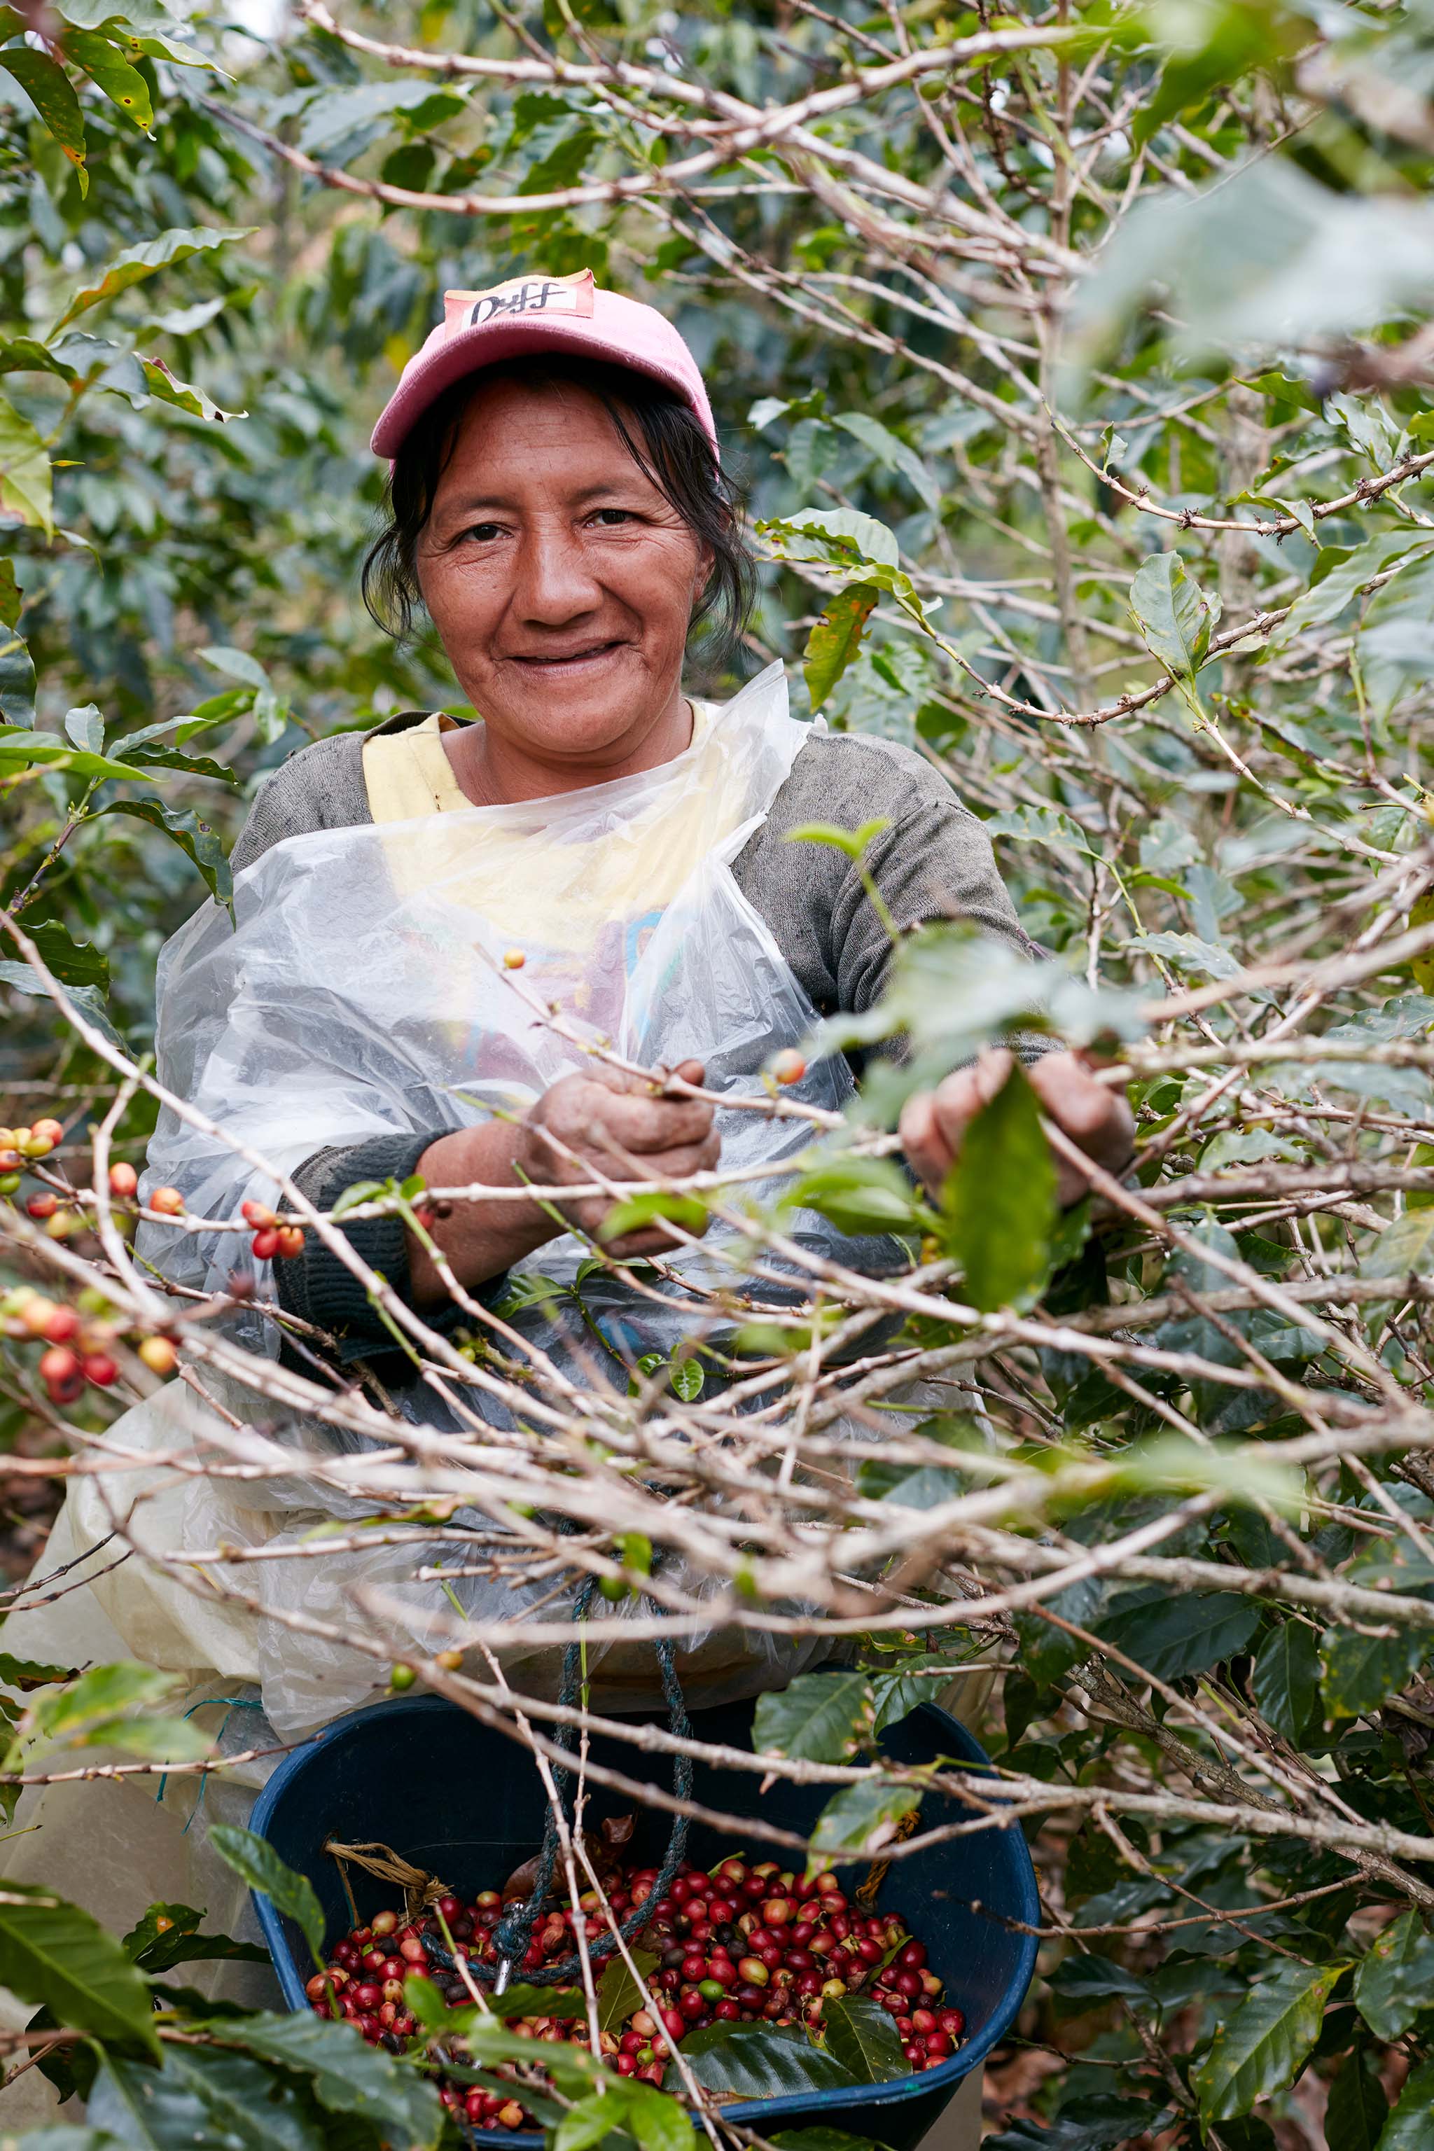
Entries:
[[447,736],[471,798],[542,798],[684,751],[682,660],[709,555],[593,394],[479,385],[415,566],[484,718]]

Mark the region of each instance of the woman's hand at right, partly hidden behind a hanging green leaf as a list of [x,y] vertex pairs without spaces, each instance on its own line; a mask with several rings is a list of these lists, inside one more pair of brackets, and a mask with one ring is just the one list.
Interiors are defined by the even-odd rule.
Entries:
[[[918,1091],[901,1112],[901,1144],[912,1170],[933,1196],[961,1155],[965,1129],[1006,1082],[1006,1048],[983,1052],[972,1067],[957,1069],[935,1091]],[[1026,1069],[1026,1080],[1053,1121],[1086,1157],[1105,1172],[1124,1172],[1135,1153],[1135,1116],[1122,1091],[1096,1082],[1077,1054],[1045,1054]],[[1073,1159],[1056,1157],[1056,1190],[1062,1205],[1079,1202],[1090,1181]]]

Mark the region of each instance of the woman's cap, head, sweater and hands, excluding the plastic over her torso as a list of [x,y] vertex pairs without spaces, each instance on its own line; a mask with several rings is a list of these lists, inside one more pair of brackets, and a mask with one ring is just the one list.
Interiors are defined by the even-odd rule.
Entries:
[[[750,600],[752,566],[692,355],[660,314],[596,288],[589,271],[447,293],[445,318],[404,370],[372,445],[391,458],[391,480],[365,589],[396,602],[404,626],[417,604],[428,611],[482,723],[398,716],[303,749],[258,796],[234,850],[241,873],[305,832],[557,800],[690,753],[712,712],[682,690],[688,635],[716,613],[731,641]],[[694,850],[731,835],[692,794],[671,813]],[[950,787],[907,749],[813,729],[731,871],[819,1013],[879,1000],[892,942],[851,860],[787,837],[808,822],[877,817],[888,828],[866,867],[899,927],[967,918],[1030,949],[985,830]],[[697,1065],[682,1073],[701,1078]],[[907,1103],[905,1153],[931,1190],[1002,1078],[1004,1060],[991,1056]],[[1032,1082],[1077,1144],[1124,1164],[1129,1110],[1075,1056],[1045,1056]],[[357,1181],[411,1172],[432,1187],[527,1181],[557,1192],[611,1177],[619,1151],[654,1174],[707,1168],[718,1157],[714,1108],[654,1099],[634,1078],[589,1065],[516,1123],[325,1144],[295,1179],[320,1209]],[[1073,1200],[1081,1190],[1066,1164],[1060,1177]],[[589,1196],[563,1215],[596,1233],[606,1209]],[[458,1280],[490,1293],[559,1235],[553,1211],[553,1200],[462,1202],[432,1235]],[[413,1306],[451,1310],[402,1222],[355,1224],[348,1239]],[[649,1228],[613,1252],[662,1245],[666,1235]],[[391,1347],[359,1280],[314,1235],[275,1282],[290,1312],[342,1338],[342,1357]]]

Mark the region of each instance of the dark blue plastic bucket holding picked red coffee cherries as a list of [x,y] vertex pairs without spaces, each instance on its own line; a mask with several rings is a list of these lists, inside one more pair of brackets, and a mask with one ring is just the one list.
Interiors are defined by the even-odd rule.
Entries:
[[[694,1710],[692,1734],[720,1747],[750,1749],[752,1704]],[[987,1757],[957,1719],[922,1704],[881,1738],[892,1762],[927,1764],[944,1755],[961,1764]],[[593,1740],[593,1760],[654,1785],[671,1783],[671,1762],[647,1757],[619,1740]],[[703,1807],[729,1815],[761,1815],[778,1828],[808,1833],[828,1787],[791,1785],[785,1779],[759,1792],[761,1779],[746,1770],[709,1770],[697,1764],[692,1796]],[[630,1800],[589,1792],[589,1818],[628,1813]],[[927,1794],[922,1822],[929,1826],[961,1813],[963,1803]],[[335,1861],[322,1850],[340,1843],[387,1843],[417,1867],[441,1876],[458,1895],[501,1889],[512,1869],[537,1850],[544,1826],[544,1792],[525,1749],[490,1732],[464,1710],[432,1695],[406,1695],[338,1719],[314,1740],[295,1749],[273,1772],[254,1803],[249,1828],[267,1837],[279,1858],[305,1874],[318,1891],[327,1932],[338,1940],[350,1925],[348,1904]],[[671,1815],[641,1809],[634,1854],[656,1863],[666,1843]],[[780,1856],[778,1848],[692,1824],[688,1858],[714,1867],[746,1850],[757,1858]],[[869,1863],[841,1869],[856,1886]],[[361,1871],[350,1874],[361,1917],[398,1908],[400,1893]],[[1010,2028],[1026,1998],[1036,1938],[1013,1934],[998,1919],[974,1912],[972,1904],[1023,1921],[1038,1921],[1036,1876],[1019,1824],[978,1831],[972,1837],[933,1846],[899,1861],[881,1884],[879,1908],[901,1912],[927,1945],[929,1964],[946,1981],[946,2000],[965,2011],[965,2046],[920,2076],[892,2084],[811,2091],[783,2099],[750,2099],[725,2106],[733,2121],[770,2134],[774,2127],[828,2123],[856,2136],[871,2136],[907,2151],[920,2142],[948,2104],[957,2084],[978,2067]],[[292,1921],[275,1912],[269,1897],[254,1897],[284,2000],[307,2009],[303,1983],[310,1957]],[[531,2151],[533,2136],[490,2129],[484,2145]]]

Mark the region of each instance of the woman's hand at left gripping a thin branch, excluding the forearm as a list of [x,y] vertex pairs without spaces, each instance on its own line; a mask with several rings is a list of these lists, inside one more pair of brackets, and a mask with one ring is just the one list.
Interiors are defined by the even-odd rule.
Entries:
[[[701,1060],[684,1060],[675,1071],[701,1084]],[[722,1153],[712,1106],[697,1097],[654,1095],[643,1076],[626,1076],[593,1063],[583,1076],[563,1076],[529,1106],[514,1153],[514,1172],[553,1190],[583,1181],[675,1181],[709,1172]],[[561,1211],[583,1233],[598,1237],[613,1209],[611,1196],[574,1196]],[[705,1226],[703,1226],[705,1230]],[[623,1260],[669,1252],[675,1237],[662,1222],[623,1233],[606,1252]]]

